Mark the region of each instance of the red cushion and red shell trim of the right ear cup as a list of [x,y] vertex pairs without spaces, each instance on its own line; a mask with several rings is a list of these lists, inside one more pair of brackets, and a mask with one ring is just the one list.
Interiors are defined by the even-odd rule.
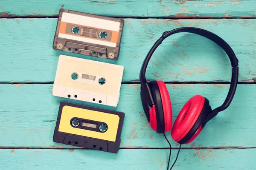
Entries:
[[[198,120],[198,117],[204,108],[204,103],[205,98],[201,95],[195,95],[189,99],[188,102],[186,102],[172,127],[172,139],[174,139],[176,142],[180,142],[189,133],[193,125],[195,125],[195,122]],[[197,130],[197,132],[198,134],[201,132],[200,128]],[[195,133],[196,136],[198,134]],[[196,136],[193,136],[194,139]]]

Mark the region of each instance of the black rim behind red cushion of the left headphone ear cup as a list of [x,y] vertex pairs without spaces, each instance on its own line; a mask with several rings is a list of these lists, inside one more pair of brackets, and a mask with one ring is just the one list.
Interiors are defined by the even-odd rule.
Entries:
[[164,115],[163,115],[163,104],[160,95],[160,90],[156,81],[150,81],[148,83],[151,90],[151,94],[154,100],[157,118],[157,133],[164,132]]

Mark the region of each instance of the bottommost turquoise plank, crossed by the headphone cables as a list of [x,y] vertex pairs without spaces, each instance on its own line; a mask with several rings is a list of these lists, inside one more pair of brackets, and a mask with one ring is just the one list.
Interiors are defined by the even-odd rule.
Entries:
[[[177,150],[172,150],[171,163],[176,154]],[[125,149],[117,154],[80,149],[0,149],[3,170],[166,170],[168,156],[168,149]],[[255,156],[256,149],[182,149],[174,169],[256,170],[250,163]]]

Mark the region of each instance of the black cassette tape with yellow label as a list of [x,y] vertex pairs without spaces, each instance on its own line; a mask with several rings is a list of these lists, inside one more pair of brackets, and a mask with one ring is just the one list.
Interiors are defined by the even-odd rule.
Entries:
[[61,102],[53,141],[117,153],[125,113]]

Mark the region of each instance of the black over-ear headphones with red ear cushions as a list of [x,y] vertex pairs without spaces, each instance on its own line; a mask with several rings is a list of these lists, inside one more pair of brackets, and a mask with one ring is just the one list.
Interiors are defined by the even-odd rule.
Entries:
[[[212,110],[209,100],[201,95],[195,95],[183,106],[172,127],[172,105],[168,90],[163,81],[152,80],[147,82],[145,78],[148,62],[164,39],[172,34],[187,32],[198,34],[212,40],[227,53],[232,65],[232,78],[230,89],[224,103]],[[238,83],[238,59],[230,45],[221,37],[201,28],[183,27],[163,33],[148,52],[140,70],[141,101],[143,110],[151,128],[157,133],[166,133],[172,129],[172,139],[179,144],[192,142],[209,120],[219,112],[224,111],[231,103]]]

